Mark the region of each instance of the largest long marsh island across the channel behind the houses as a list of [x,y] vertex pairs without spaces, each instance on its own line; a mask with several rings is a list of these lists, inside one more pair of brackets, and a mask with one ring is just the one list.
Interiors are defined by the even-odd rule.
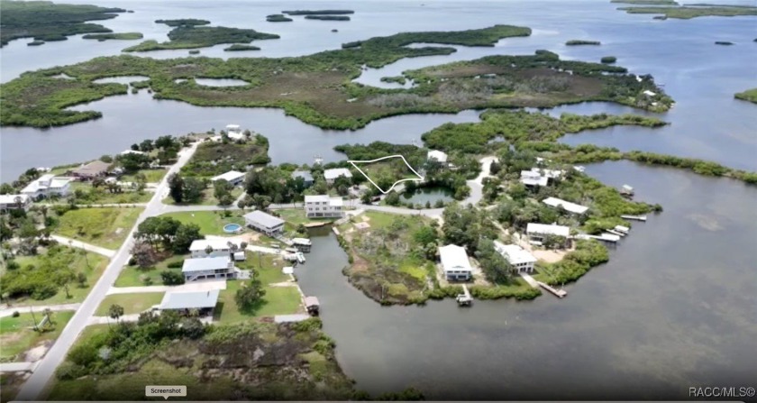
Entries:
[[[195,41],[208,41],[207,36],[197,35],[198,32],[223,29],[178,27],[172,31],[174,38],[177,30],[183,37],[178,46],[184,48],[199,46]],[[102,57],[32,71],[3,84],[0,100],[5,107],[0,111],[0,124],[47,127],[96,119],[101,116],[99,112],[66,108],[125,94],[128,87],[123,84],[93,81],[128,75],[150,77],[150,87],[157,99],[202,106],[279,107],[307,124],[327,129],[356,129],[397,114],[455,113],[470,108],[549,107],[607,101],[663,112],[672,105],[672,99],[651,76],[637,77],[617,66],[561,60],[547,50],[537,50],[531,56],[489,56],[407,71],[406,78],[420,83],[412,88],[386,89],[351,82],[360,76],[363,66],[380,68],[403,58],[455,51],[444,44],[492,46],[503,38],[530,33],[529,28],[511,25],[460,32],[404,32],[295,58]],[[242,32],[242,35],[251,35],[248,39],[274,36],[260,32]],[[220,41],[230,39],[223,35],[221,38]],[[239,42],[236,37],[233,40]],[[406,47],[414,42],[440,46]],[[171,43],[166,46],[171,48],[174,46]],[[163,49],[163,45],[153,42],[135,48]],[[61,73],[78,79],[54,78]],[[236,78],[251,85],[221,88],[198,86],[191,80],[175,82],[194,77]]]

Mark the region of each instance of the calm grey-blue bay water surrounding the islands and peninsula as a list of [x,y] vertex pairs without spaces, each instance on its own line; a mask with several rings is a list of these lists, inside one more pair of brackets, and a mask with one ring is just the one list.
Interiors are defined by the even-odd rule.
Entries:
[[[280,57],[337,49],[342,42],[401,31],[462,30],[495,23],[530,26],[528,38],[499,41],[492,48],[457,47],[446,57],[399,60],[367,70],[358,81],[385,87],[381,77],[406,69],[488,54],[552,50],[564,59],[598,60],[614,55],[618,65],[651,73],[676,99],[673,110],[655,114],[661,129],[616,127],[569,135],[565,142],[592,142],[622,150],[646,150],[716,160],[757,170],[757,107],[733,94],[757,86],[754,18],[653,21],[652,15],[617,12],[604,0],[523,1],[334,1],[307,8],[356,10],[350,23],[266,23],[266,14],[303,8],[297,2],[194,2],[76,0],[123,6],[103,24],[115,32],[142,32],[165,41],[159,18],[205,18],[224,26],[252,27],[281,35],[256,41],[256,52],[229,54],[226,45],[201,56]],[[734,3],[729,1],[727,3]],[[746,2],[748,3],[748,2]],[[745,4],[746,4],[745,3]],[[339,32],[330,32],[337,28]],[[565,41],[602,41],[599,47],[566,47]],[[714,41],[734,41],[730,47]],[[138,41],[68,41],[27,47],[13,41],[0,50],[2,81],[23,71],[114,55]],[[233,52],[232,52],[233,53]],[[186,50],[143,53],[153,58],[187,56]],[[0,179],[24,169],[113,154],[133,142],[164,134],[204,132],[241,124],[269,137],[274,163],[312,162],[315,155],[339,160],[333,146],[349,143],[418,142],[445,122],[475,122],[478,112],[406,115],[366,128],[323,131],[278,109],[196,107],[153,100],[145,91],[114,96],[77,110],[104,118],[50,130],[3,128]],[[562,112],[643,113],[630,107],[588,103]],[[346,256],[333,237],[317,237],[314,252],[297,269],[306,293],[324,307],[324,325],[336,340],[344,370],[373,392],[416,386],[433,398],[687,398],[689,386],[751,385],[757,376],[757,188],[630,162],[592,165],[588,173],[608,184],[630,183],[638,198],[661,203],[664,213],[632,234],[605,266],[568,288],[569,297],[533,302],[477,302],[458,309],[451,300],[427,307],[379,307],[342,276]]]

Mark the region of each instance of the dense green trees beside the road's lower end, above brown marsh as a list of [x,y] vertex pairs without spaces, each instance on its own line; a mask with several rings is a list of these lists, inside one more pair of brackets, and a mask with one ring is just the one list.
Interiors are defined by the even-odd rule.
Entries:
[[[116,315],[117,309],[113,314],[121,316]],[[121,373],[171,340],[199,339],[208,332],[209,328],[194,316],[182,317],[173,311],[160,315],[144,312],[137,323],[119,322],[110,331],[77,343],[56,375],[59,380],[75,380],[86,375]]]

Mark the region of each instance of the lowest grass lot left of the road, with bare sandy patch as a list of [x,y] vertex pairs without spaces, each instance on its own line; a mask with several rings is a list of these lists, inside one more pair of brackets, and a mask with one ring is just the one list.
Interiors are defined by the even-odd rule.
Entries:
[[[72,311],[53,312],[52,321],[54,324],[45,326],[42,333],[31,329],[34,325],[31,313],[21,314],[18,317],[5,316],[0,318],[0,359],[9,362],[22,360],[23,357],[17,357],[19,354],[43,341],[58,338],[71,316],[74,316]],[[34,313],[34,317],[39,322],[42,319],[42,314]]]

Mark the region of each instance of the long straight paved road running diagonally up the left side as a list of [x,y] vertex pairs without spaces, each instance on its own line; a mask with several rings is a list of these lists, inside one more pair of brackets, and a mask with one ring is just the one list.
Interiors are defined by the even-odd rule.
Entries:
[[174,164],[163,180],[160,181],[160,185],[155,190],[155,195],[150,199],[150,203],[145,206],[144,211],[137,219],[137,222],[132,227],[129,236],[123,243],[121,248],[115,252],[113,259],[111,259],[105,272],[97,281],[95,287],[89,292],[87,299],[81,304],[78,311],[68,321],[68,325],[63,329],[63,332],[59,335],[58,340],[52,344],[50,351],[45,354],[41,359],[37,368],[32,372],[32,376],[23,384],[22,388],[16,396],[16,400],[34,400],[39,397],[41,391],[48,384],[50,379],[55,373],[55,369],[66,358],[66,353],[71,345],[76,341],[78,335],[87,326],[89,318],[93,316],[95,310],[105,298],[108,289],[113,286],[115,279],[118,278],[118,274],[121,272],[124,264],[129,260],[130,250],[132,249],[132,243],[134,242],[134,232],[136,231],[137,224],[141,223],[145,218],[159,215],[160,206],[162,206],[160,200],[168,193],[168,179],[172,173],[178,172],[178,169],[184,166],[187,161],[192,157],[197,149],[196,142],[190,148],[185,149],[179,153],[178,161]]

